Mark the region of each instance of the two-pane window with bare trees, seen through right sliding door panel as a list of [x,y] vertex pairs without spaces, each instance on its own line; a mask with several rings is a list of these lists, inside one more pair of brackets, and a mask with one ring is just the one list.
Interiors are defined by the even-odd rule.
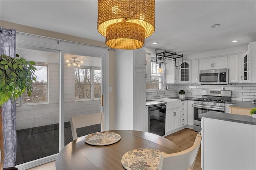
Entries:
[[101,70],[96,68],[75,68],[75,100],[93,100],[100,98],[100,95]]

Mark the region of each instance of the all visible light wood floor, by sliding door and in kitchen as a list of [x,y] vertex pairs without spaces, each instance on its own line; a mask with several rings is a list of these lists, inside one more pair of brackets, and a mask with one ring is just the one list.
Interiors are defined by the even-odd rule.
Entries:
[[[168,136],[165,136],[165,138],[171,140],[175,144],[177,144],[180,147],[180,150],[186,150],[187,148],[190,148],[196,139],[196,134],[198,132],[195,132],[194,130],[185,128],[183,130],[180,130],[178,132],[175,132],[173,134],[170,134]],[[30,168],[29,170],[56,170],[55,168],[55,161],[48,162],[46,164],[36,166],[34,168]],[[194,170],[202,170],[201,168],[201,151],[199,149],[198,155],[196,157],[196,162],[194,164]]]

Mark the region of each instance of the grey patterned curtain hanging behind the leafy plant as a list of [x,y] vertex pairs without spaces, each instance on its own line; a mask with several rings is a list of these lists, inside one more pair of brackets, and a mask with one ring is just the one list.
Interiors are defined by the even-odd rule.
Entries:
[[[15,57],[16,54],[16,30],[0,27],[1,54]],[[12,100],[2,106],[3,136],[4,136],[4,168],[15,167],[16,161],[16,103]],[[1,153],[2,154],[2,153]]]

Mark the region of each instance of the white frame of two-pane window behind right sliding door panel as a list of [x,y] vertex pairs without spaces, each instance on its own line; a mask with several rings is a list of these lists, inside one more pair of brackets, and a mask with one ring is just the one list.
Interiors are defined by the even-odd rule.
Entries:
[[[83,66],[81,65],[80,67],[74,67],[74,70],[75,69],[90,69],[91,72],[90,72],[90,76],[91,76],[91,99],[76,99],[76,94],[74,94],[74,101],[75,102],[79,102],[79,101],[97,101],[97,100],[100,100],[100,97],[99,98],[94,98],[94,70],[100,70],[100,79],[102,81],[102,70],[100,67],[88,67],[88,66]],[[75,75],[74,75],[75,76]],[[75,88],[75,82],[74,82],[74,88]],[[86,84],[84,84],[86,85]],[[76,90],[75,90],[76,91]],[[75,93],[74,91],[74,93]],[[100,92],[102,94],[102,91]]]

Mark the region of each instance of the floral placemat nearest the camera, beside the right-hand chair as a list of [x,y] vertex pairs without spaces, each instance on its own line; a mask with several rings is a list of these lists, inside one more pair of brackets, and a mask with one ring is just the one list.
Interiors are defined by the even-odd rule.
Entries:
[[154,149],[138,148],[126,152],[122,157],[122,166],[126,170],[157,170],[161,152]]

